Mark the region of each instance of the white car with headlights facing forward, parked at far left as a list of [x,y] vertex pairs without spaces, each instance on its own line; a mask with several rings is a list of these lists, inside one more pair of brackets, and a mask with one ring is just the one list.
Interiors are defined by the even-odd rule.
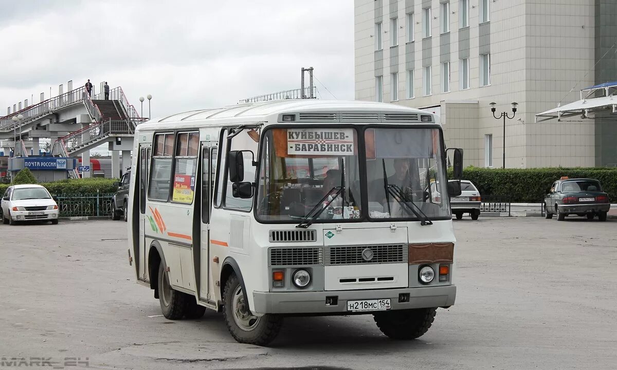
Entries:
[[2,195],[2,223],[48,220],[58,223],[58,205],[40,185],[14,185]]

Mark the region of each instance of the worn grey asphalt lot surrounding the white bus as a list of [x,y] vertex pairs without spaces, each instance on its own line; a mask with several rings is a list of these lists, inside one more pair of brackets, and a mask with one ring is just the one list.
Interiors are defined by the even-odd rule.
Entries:
[[218,313],[160,316],[128,265],[122,221],[0,225],[0,369],[32,358],[65,369],[616,368],[617,220],[466,216],[454,228],[457,302],[420,339],[390,340],[370,315],[288,318],[257,347],[236,343]]

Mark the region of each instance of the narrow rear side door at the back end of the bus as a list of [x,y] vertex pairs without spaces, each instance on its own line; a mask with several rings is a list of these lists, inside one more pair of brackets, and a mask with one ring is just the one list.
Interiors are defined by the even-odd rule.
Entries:
[[[148,281],[147,278],[147,266],[146,266],[146,194],[147,194],[147,179],[150,170],[150,157],[152,155],[151,144],[139,145],[139,253],[136,253],[135,263],[138,269],[138,279],[141,281]],[[135,213],[133,213],[135,214]],[[135,221],[133,221],[135,225]]]

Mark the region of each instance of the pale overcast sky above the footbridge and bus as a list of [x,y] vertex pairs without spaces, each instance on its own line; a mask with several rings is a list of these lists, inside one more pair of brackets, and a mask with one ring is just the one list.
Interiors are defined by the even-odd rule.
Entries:
[[0,115],[88,78],[138,110],[152,94],[153,117],[220,107],[299,88],[301,67],[323,99],[354,98],[352,0],[0,0],[0,40]]

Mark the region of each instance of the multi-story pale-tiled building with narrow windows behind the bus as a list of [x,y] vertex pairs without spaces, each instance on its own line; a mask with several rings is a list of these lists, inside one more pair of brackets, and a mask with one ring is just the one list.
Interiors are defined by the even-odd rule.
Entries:
[[465,165],[617,163],[617,121],[537,113],[617,80],[615,0],[355,0],[355,97],[441,115]]

